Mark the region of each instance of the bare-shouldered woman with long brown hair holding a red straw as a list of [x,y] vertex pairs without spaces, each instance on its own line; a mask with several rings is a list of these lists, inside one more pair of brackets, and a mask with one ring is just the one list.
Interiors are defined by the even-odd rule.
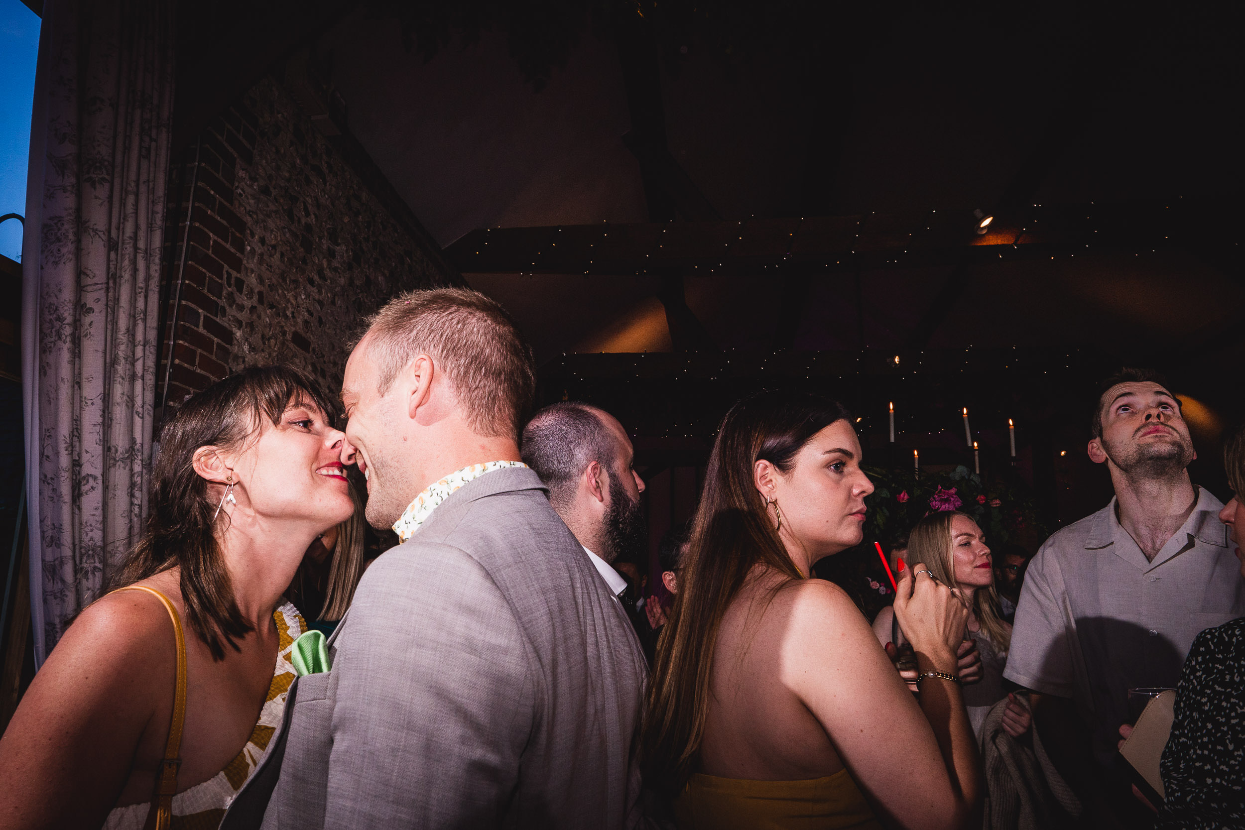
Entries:
[[965,606],[929,569],[901,572],[918,706],[852,600],[808,579],[860,543],[872,492],[833,401],[764,392],[722,421],[645,713],[647,780],[681,828],[949,829],[979,814],[955,673]]

